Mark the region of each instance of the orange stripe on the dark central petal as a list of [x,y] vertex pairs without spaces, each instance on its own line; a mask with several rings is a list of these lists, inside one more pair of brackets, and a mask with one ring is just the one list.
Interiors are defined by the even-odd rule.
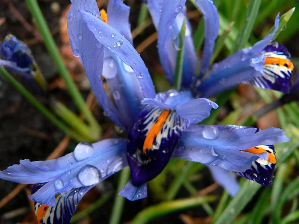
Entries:
[[143,153],[145,153],[147,149],[151,148],[151,146],[153,144],[153,140],[158,135],[159,131],[163,127],[164,123],[166,122],[166,119],[169,115],[169,112],[170,112],[170,110],[165,110],[165,111],[161,112],[161,114],[158,117],[157,121],[150,128],[149,133],[148,133],[148,135],[146,137],[146,140],[144,142]]

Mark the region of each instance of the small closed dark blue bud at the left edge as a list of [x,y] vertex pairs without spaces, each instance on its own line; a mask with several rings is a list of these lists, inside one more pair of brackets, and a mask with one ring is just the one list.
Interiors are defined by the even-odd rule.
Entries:
[[25,43],[9,34],[0,45],[0,66],[7,68],[11,73],[21,76],[33,91],[40,92],[47,89],[40,70]]

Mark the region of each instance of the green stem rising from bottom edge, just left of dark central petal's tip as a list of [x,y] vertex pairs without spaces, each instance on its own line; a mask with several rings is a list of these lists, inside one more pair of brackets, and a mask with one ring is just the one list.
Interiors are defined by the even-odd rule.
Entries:
[[118,193],[125,187],[126,183],[129,180],[129,177],[130,177],[130,168],[125,167],[121,171],[121,177],[120,177],[119,185],[117,188],[117,194],[114,199],[114,205],[113,205],[112,213],[110,216],[109,224],[119,224],[120,223],[126,199],[124,197],[118,195]]

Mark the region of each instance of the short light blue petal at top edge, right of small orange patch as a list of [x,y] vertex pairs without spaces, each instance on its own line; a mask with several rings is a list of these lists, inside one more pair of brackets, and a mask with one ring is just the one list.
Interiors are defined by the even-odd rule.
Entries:
[[110,0],[107,7],[108,24],[119,31],[133,45],[131,24],[129,22],[130,7],[122,0]]

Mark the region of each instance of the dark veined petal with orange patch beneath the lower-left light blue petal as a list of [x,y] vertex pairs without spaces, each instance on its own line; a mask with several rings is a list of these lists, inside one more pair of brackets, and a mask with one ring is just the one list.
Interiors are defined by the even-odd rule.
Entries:
[[[31,194],[34,194],[43,185],[35,184],[31,189]],[[53,207],[35,202],[34,210],[37,222],[39,224],[69,224],[79,202],[92,187],[72,189],[68,193],[56,195]]]

